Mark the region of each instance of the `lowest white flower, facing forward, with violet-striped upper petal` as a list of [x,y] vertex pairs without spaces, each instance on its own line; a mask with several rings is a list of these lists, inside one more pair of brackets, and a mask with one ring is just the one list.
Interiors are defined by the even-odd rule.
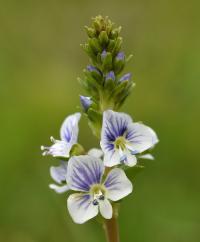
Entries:
[[123,170],[112,169],[103,180],[103,162],[95,157],[73,156],[67,168],[67,184],[77,193],[69,196],[67,207],[75,223],[82,224],[99,212],[112,218],[110,201],[118,201],[132,192],[132,183]]

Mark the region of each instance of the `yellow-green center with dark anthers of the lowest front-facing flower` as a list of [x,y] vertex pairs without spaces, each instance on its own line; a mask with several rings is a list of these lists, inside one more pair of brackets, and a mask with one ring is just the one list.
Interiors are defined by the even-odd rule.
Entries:
[[100,201],[105,199],[106,189],[101,184],[95,184],[90,189],[91,197],[93,197],[93,205],[98,205]]

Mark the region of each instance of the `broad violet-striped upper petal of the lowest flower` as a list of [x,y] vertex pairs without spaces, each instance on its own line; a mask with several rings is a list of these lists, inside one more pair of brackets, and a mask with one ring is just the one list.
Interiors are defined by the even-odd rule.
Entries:
[[73,156],[68,162],[67,184],[75,191],[89,191],[93,184],[101,182],[103,162],[89,155]]

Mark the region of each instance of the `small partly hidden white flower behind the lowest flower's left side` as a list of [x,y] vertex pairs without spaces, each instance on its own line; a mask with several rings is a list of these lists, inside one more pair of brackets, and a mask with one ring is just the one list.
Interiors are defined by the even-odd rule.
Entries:
[[67,162],[61,161],[60,166],[51,166],[50,167],[50,175],[53,180],[58,183],[50,184],[49,187],[57,193],[64,193],[69,190],[68,185],[66,184],[66,176],[67,176]]

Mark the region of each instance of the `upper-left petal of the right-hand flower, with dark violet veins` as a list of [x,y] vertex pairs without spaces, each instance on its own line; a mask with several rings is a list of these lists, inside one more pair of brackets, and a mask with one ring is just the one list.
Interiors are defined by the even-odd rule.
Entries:
[[123,136],[128,124],[132,122],[129,115],[107,110],[103,113],[103,125],[101,131],[101,148],[105,152],[114,149],[113,142],[117,137]]

